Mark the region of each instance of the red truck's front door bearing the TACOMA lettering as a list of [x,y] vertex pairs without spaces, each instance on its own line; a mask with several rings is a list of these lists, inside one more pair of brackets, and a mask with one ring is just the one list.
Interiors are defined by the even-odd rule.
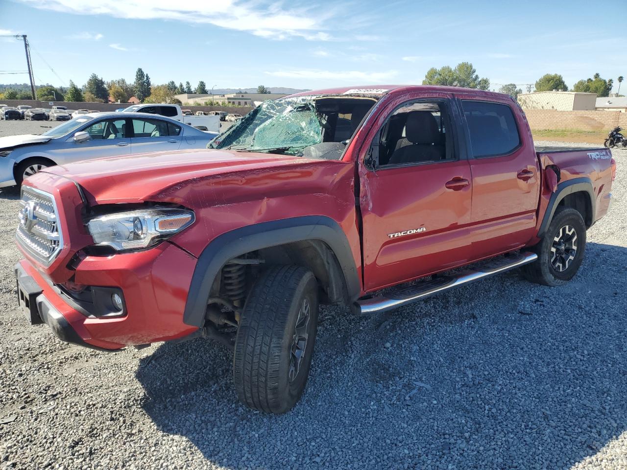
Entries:
[[367,291],[464,264],[470,256],[472,175],[451,104],[448,93],[391,103],[372,141],[378,164],[360,163]]

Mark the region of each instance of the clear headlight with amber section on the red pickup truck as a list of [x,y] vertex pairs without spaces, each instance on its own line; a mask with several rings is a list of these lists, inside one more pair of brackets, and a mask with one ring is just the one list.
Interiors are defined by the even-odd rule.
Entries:
[[124,251],[152,246],[189,227],[192,222],[192,211],[154,208],[95,217],[87,226],[93,243]]

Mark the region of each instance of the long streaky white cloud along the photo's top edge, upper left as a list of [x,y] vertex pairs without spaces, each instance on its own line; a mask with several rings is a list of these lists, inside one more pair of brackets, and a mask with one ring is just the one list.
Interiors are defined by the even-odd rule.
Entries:
[[331,41],[322,25],[336,15],[334,8],[324,13],[311,8],[284,8],[280,2],[243,0],[20,0],[34,8],[75,14],[105,14],[126,19],[164,19],[186,23],[213,24],[246,31],[266,39],[300,37],[309,41]]

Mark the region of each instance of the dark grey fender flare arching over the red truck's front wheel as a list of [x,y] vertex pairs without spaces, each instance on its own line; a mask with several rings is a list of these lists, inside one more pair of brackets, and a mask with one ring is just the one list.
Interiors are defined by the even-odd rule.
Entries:
[[349,241],[339,224],[325,216],[292,217],[241,227],[211,241],[198,257],[189,285],[183,322],[191,326],[204,325],[211,286],[229,259],[261,248],[305,240],[319,240],[329,246],[344,274],[349,301],[356,300],[361,283]]

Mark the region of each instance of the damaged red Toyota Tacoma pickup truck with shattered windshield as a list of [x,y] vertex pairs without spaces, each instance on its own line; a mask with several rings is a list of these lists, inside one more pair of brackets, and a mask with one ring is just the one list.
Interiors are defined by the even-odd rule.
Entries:
[[519,266],[566,283],[615,171],[608,149],[534,148],[507,95],[307,91],[264,102],[208,150],[29,177],[19,301],[99,350],[214,338],[233,349],[238,397],[285,412],[319,303],[377,313]]

